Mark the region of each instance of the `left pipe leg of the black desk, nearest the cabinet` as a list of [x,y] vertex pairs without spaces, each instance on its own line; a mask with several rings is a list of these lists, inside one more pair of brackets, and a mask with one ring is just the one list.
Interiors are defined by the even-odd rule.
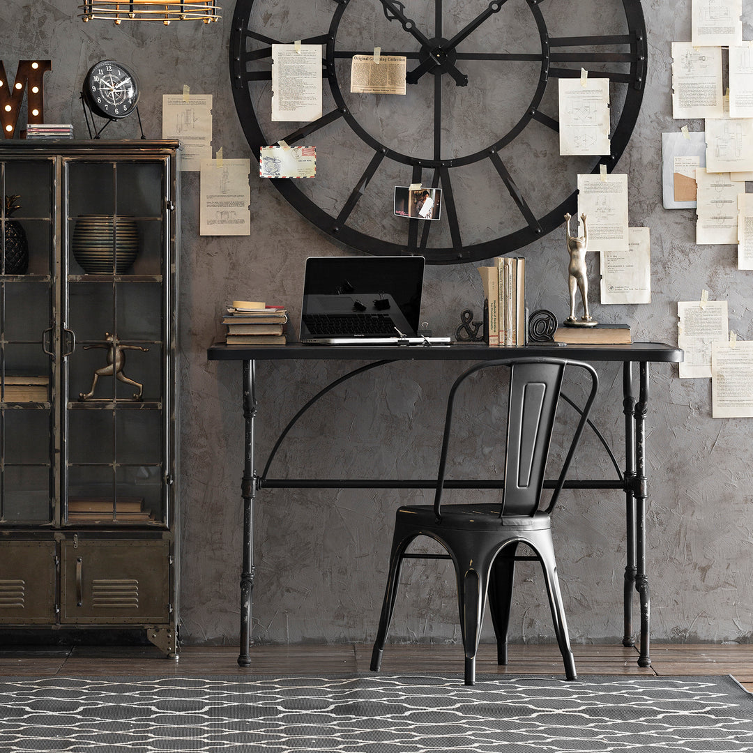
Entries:
[[256,417],[256,375],[254,361],[243,361],[243,419],[245,442],[243,461],[243,569],[240,574],[240,666],[251,664],[252,593],[254,590],[254,419]]

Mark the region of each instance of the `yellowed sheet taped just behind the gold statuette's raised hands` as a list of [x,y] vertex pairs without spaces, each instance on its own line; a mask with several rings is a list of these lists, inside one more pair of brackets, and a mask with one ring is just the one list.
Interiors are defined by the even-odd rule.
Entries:
[[630,248],[627,175],[578,175],[578,217],[586,215],[589,251]]

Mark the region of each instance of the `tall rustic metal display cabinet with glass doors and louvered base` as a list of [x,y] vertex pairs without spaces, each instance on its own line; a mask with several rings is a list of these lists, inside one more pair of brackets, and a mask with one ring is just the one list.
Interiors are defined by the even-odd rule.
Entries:
[[178,651],[178,142],[0,144],[0,630]]

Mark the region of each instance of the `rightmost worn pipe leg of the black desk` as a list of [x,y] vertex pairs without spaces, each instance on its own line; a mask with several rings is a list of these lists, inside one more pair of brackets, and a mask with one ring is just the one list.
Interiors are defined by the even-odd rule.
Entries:
[[636,403],[636,590],[641,601],[641,654],[638,666],[651,666],[649,627],[651,592],[646,575],[646,413],[648,412],[648,364],[640,364],[640,394]]

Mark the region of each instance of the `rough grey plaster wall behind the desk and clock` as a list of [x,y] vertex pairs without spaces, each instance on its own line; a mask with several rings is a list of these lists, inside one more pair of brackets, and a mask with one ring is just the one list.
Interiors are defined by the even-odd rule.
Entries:
[[[149,138],[159,138],[162,93],[214,95],[215,149],[248,157],[233,106],[227,43],[233,8],[224,20],[202,24],[113,26],[84,24],[76,3],[63,0],[0,4],[0,59],[9,75],[18,59],[52,59],[46,78],[47,120],[75,123],[85,136],[81,80],[89,66],[111,57],[139,72],[142,119]],[[482,4],[480,4],[482,5]],[[572,7],[575,11],[577,8]],[[661,200],[661,133],[672,120],[673,40],[690,39],[691,3],[645,0],[649,75],[633,139],[617,167],[630,180],[630,223],[651,227],[653,302],[600,306],[597,318],[628,322],[636,340],[676,343],[676,301],[693,300],[703,288],[730,302],[730,328],[753,338],[751,273],[736,269],[732,245],[697,246],[694,212],[666,211]],[[745,21],[751,21],[745,9]],[[745,23],[743,38],[751,38]],[[701,130],[703,123],[690,123]],[[136,136],[128,120],[108,129]],[[181,504],[183,567],[182,636],[190,643],[233,642],[239,630],[239,562],[242,512],[242,416],[239,364],[206,360],[206,347],[221,339],[218,319],[233,297],[284,303],[295,322],[303,261],[340,253],[300,218],[265,181],[253,175],[250,237],[198,235],[198,175],[184,174],[181,248]],[[524,250],[529,259],[529,306],[566,312],[562,239],[547,236]],[[593,270],[596,273],[596,270]],[[596,300],[597,296],[594,296]],[[474,264],[429,267],[424,318],[434,331],[454,331],[459,310],[480,305]],[[292,328],[294,334],[295,327]],[[389,378],[369,373],[328,396],[291,437],[279,473],[303,475],[340,469],[369,475],[431,475],[436,457],[437,401],[456,366],[398,364]],[[277,429],[336,364],[281,363],[259,368],[260,457]],[[620,370],[601,369],[596,415],[605,435],[620,447]],[[654,368],[648,426],[651,501],[648,562],[653,633],[657,640],[747,641],[753,630],[753,509],[748,419],[711,418],[709,380],[679,380],[676,367]],[[356,440],[353,437],[357,437]],[[488,445],[463,444],[456,459],[466,467]],[[362,450],[368,450],[368,456]],[[588,438],[576,472],[605,468]],[[286,468],[287,466],[287,468]],[[328,471],[326,469],[333,469]],[[600,472],[600,471],[599,471]],[[373,639],[392,531],[392,511],[406,493],[264,491],[258,498],[255,635],[265,642],[337,642]],[[623,503],[597,492],[568,492],[556,516],[559,570],[572,637],[579,642],[620,638],[624,566]],[[453,576],[444,564],[416,563],[395,615],[398,639],[459,638]],[[417,599],[417,593],[422,593]],[[511,634],[550,639],[550,617],[541,578],[521,567]],[[487,625],[487,632],[490,626]]]

